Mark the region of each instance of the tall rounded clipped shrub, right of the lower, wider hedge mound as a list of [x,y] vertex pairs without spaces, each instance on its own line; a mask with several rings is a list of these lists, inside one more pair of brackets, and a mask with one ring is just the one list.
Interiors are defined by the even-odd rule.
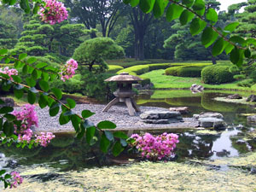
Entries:
[[223,84],[234,81],[230,73],[230,65],[218,64],[205,67],[201,71],[201,79],[205,84]]

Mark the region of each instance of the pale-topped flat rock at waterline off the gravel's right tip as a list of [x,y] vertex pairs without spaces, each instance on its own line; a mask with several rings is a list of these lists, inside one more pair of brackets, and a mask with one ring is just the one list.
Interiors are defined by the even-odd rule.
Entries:
[[226,126],[224,119],[200,118],[198,120],[199,120],[199,125],[205,128],[214,127],[215,129],[222,129]]

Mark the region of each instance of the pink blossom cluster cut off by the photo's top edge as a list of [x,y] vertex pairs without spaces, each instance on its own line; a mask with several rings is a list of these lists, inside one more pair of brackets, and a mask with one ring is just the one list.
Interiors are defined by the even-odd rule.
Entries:
[[55,25],[62,20],[67,20],[68,14],[64,4],[55,0],[45,0],[45,7],[39,10],[39,15],[45,23]]

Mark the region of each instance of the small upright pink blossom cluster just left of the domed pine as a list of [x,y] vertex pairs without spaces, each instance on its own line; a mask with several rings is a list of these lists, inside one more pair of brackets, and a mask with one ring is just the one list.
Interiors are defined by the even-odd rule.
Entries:
[[73,78],[75,70],[78,68],[78,66],[77,61],[73,59],[68,60],[61,70],[61,80],[65,82],[67,79]]

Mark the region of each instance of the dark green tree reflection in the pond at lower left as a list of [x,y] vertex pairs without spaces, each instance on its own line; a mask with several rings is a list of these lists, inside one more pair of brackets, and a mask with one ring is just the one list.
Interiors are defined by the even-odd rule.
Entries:
[[49,166],[60,168],[61,171],[102,166],[107,163],[107,157],[98,148],[91,148],[85,140],[79,141],[73,137],[56,137],[47,148],[28,149],[3,146],[0,151],[6,156],[15,155],[21,165],[49,163]]

